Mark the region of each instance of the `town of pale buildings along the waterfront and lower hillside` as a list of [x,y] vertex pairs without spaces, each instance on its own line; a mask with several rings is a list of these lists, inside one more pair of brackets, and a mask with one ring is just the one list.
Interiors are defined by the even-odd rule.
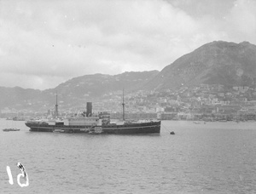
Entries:
[[[106,94],[93,102],[93,111],[108,111],[111,118],[122,118],[122,91]],[[61,108],[59,116],[79,114],[85,106]],[[26,117],[55,117],[55,109],[47,112],[17,111],[5,108],[1,117],[25,120]],[[157,118],[160,120],[255,121],[256,88],[226,87],[201,84],[199,86],[161,91],[137,91],[125,94],[125,118]]]

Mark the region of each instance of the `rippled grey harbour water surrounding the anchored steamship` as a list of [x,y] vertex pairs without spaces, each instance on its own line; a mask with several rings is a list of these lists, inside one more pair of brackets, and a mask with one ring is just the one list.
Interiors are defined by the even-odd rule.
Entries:
[[[39,133],[6,120],[0,127],[1,193],[256,193],[256,123],[167,121],[160,135]],[[27,187],[17,184],[18,162]]]

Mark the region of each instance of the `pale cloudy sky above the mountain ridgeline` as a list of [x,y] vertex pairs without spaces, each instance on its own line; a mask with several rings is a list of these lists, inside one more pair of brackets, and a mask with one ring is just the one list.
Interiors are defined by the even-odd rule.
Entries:
[[0,86],[161,71],[215,40],[256,44],[256,0],[0,0]]

